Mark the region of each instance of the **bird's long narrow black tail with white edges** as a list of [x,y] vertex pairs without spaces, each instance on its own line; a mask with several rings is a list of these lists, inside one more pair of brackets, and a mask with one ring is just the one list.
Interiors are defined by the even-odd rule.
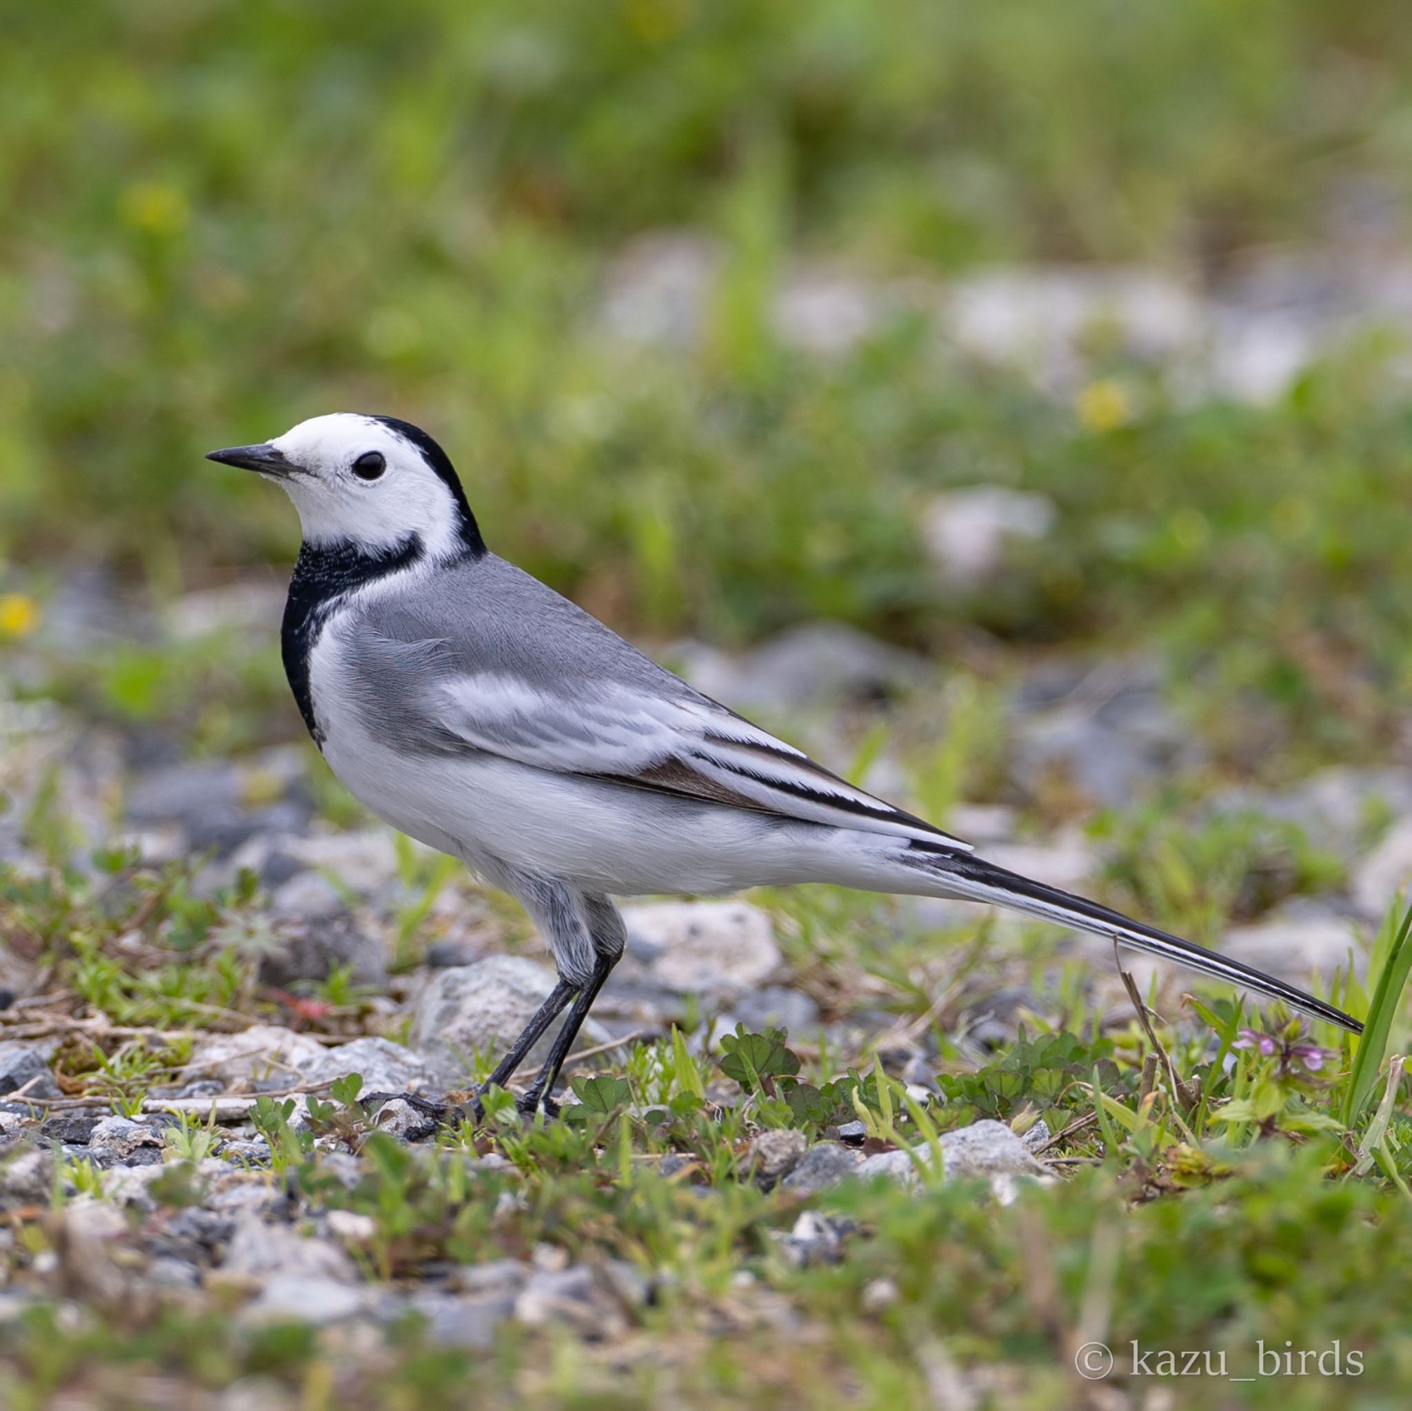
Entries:
[[1348,1033],[1363,1033],[1363,1024],[1357,1019],[1350,1017],[1341,1009],[1334,1009],[1333,1005],[1326,1005],[1322,999],[1315,999],[1313,995],[1306,995],[1293,985],[1286,985],[1274,975],[1252,969],[1250,965],[1243,965],[1226,955],[1217,955],[1216,951],[1209,951],[1192,941],[1183,941],[1179,935],[1159,931],[1154,926],[1144,926],[1121,912],[1099,906],[1097,902],[1072,896],[1069,892],[1045,886],[1042,882],[1032,882],[1029,878],[998,868],[984,858],[933,851],[914,842],[905,854],[905,862],[935,878],[952,896],[1008,906],[1075,931],[1104,935],[1135,951],[1161,955],[1163,959],[1200,971],[1203,975],[1214,975],[1217,979],[1230,981],[1233,985],[1268,995],[1271,999],[1282,999],[1292,1009],[1327,1020],[1330,1024],[1339,1024]]

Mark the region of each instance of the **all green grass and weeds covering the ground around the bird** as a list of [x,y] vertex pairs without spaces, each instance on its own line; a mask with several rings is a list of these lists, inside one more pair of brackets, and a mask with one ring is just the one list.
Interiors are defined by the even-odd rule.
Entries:
[[[1367,227],[1347,216],[1370,193],[1395,253],[1412,30],[1394,7],[11,10],[0,673],[16,694],[192,753],[302,738],[273,622],[254,645],[154,629],[75,649],[48,628],[76,567],[112,567],[157,610],[182,590],[277,577],[295,549],[288,505],[201,454],[363,408],[426,425],[493,547],[644,639],[734,648],[839,618],[929,653],[945,669],[935,691],[881,721],[850,717],[832,748],[856,751],[856,772],[887,751],[899,801],[940,823],[988,800],[1019,807],[1022,837],[1079,825],[1104,899],[1175,930],[1219,940],[1233,917],[1337,889],[1387,821],[1327,838],[1209,804],[1230,785],[1401,758],[1412,413],[1396,339],[1368,332],[1272,405],[1243,406],[1192,401],[1096,327],[1077,385],[1042,395],[1014,370],[960,361],[916,310],[839,357],[806,356],[778,337],[771,298],[805,260],[929,293],[1011,262],[1152,265],[1197,286],[1310,247],[1356,265]],[[621,251],[661,229],[720,251],[699,336],[616,341],[604,289]],[[1096,416],[1114,395],[1125,415]],[[980,481],[1049,497],[1058,529],[986,593],[957,595],[938,586],[918,523],[933,495]],[[1063,780],[1017,796],[1007,706],[1025,673],[1127,652],[1156,660],[1204,762],[1097,817]],[[66,1003],[110,1020],[56,1053],[66,1092],[136,1110],[201,1031],[289,1019],[258,982],[274,937],[251,879],[210,895],[195,858],[154,869],[114,852],[92,868],[59,773],[35,783],[20,830],[48,869],[0,869],[0,934]],[[308,787],[325,820],[366,823],[312,756]],[[376,924],[405,971],[460,883],[411,849],[398,864]],[[373,1222],[357,1250],[370,1276],[411,1283],[429,1263],[544,1243],[623,1260],[655,1294],[621,1311],[621,1336],[517,1328],[465,1353],[412,1319],[354,1356],[337,1333],[241,1328],[239,1291],[212,1288],[201,1307],[85,1298],[58,1212],[35,1208],[7,1212],[0,1261],[10,1287],[52,1280],[56,1297],[0,1322],[0,1400],[126,1407],[165,1387],[198,1405],[264,1377],[271,1400],[350,1411],[894,1411],[966,1404],[959,1377],[979,1407],[1067,1411],[1113,1390],[1072,1370],[1086,1340],[1110,1343],[1120,1370],[1137,1339],[1224,1352],[1245,1376],[1261,1340],[1288,1339],[1356,1348],[1365,1370],[1118,1387],[1154,1407],[1141,1403],[1154,1390],[1175,1407],[1401,1404],[1412,1119],[1387,1079],[1412,1046],[1405,921],[1389,917],[1367,988],[1334,986],[1368,1016],[1354,1046],[1207,986],[1151,1033],[1135,1019],[1103,1029],[1093,967],[1056,954],[1053,931],[936,933],[832,889],[757,900],[830,1016],[931,1030],[945,1101],[916,1108],[874,1054],[818,1036],[733,1034],[716,1057],[672,1036],[576,1074],[562,1123],[525,1130],[489,1101],[486,1127],[431,1153],[370,1134],[350,1088],[316,1096],[313,1129],[367,1143],[352,1189],[281,1102],[256,1115],[308,1211]],[[496,906],[490,921],[517,943],[522,921]],[[988,1054],[966,1007],[1005,986],[1027,996],[1024,1031]],[[330,1023],[374,1012],[346,974],[321,995]],[[1073,1130],[1049,1153],[1065,1163],[1055,1184],[1012,1205],[938,1180],[935,1163],[915,1194],[830,1192],[812,1204],[856,1222],[843,1259],[799,1267],[781,1239],[799,1204],[758,1188],[748,1144],[840,1116],[919,1153],[976,1118]],[[160,1218],[191,1199],[212,1140],[196,1120],[168,1134]],[[473,1164],[490,1153],[508,1165]],[[661,1175],[668,1154],[690,1170]],[[100,1171],[61,1167],[56,1205],[102,1194]]]

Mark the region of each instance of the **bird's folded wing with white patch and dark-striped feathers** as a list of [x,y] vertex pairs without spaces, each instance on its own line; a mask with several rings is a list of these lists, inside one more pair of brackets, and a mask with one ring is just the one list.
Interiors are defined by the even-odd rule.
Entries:
[[705,697],[589,680],[570,700],[520,676],[479,672],[445,682],[433,710],[467,745],[537,769],[970,849]]

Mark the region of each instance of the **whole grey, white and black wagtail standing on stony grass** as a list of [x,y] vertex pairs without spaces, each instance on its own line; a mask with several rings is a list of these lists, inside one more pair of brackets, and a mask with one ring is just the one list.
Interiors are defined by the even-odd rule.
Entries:
[[[335,412],[215,450],[294,501],[281,655],[304,724],[373,814],[520,900],[556,983],[490,1074],[554,1088],[627,933],[614,897],[839,883],[1011,907],[1361,1033],[1333,1005],[1007,871],[738,715],[486,546],[446,452]],[[565,1013],[568,1012],[568,1013]]]

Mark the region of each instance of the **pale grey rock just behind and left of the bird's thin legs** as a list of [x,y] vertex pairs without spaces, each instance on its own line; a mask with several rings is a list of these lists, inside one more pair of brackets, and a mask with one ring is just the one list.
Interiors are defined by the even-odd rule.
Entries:
[[[500,1054],[520,1037],[555,986],[554,974],[521,955],[491,955],[474,965],[438,971],[417,1002],[409,1043],[436,1081],[455,1086],[467,1079],[477,1051]],[[548,1054],[554,1027],[530,1051],[531,1070]],[[607,1041],[592,1019],[579,1031],[585,1044]]]

